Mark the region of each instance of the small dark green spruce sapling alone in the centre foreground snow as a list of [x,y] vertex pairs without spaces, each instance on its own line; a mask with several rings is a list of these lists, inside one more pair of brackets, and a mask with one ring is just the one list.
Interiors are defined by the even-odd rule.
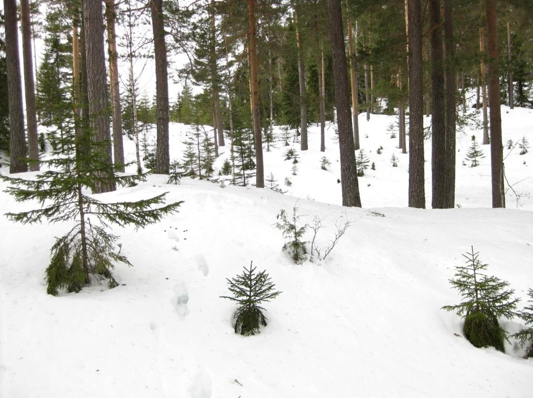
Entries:
[[253,336],[260,333],[260,326],[266,326],[268,320],[264,314],[263,302],[275,299],[281,292],[274,291],[274,285],[266,270],[255,274],[256,267],[243,267],[244,271],[235,278],[226,279],[228,290],[232,296],[220,296],[239,304],[233,314],[235,318],[235,333],[243,336]]

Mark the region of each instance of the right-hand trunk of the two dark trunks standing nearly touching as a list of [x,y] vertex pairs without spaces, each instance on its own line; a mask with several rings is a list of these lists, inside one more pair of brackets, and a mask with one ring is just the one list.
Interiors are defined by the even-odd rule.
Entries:
[[455,112],[457,89],[455,76],[455,39],[453,0],[444,2],[444,38],[446,51],[446,207],[455,206]]

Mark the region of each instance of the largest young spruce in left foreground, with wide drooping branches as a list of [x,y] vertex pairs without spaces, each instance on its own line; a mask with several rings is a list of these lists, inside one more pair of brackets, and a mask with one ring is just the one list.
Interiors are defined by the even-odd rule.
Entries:
[[[6,215],[21,223],[31,224],[43,219],[50,223],[73,223],[68,233],[56,238],[52,246],[50,265],[46,269],[47,293],[57,295],[59,289],[79,292],[100,279],[107,279],[109,288],[115,287],[117,282],[111,275],[115,263],[131,264],[120,250],[115,251],[120,244],[117,243],[118,236],[108,232],[109,225],[143,228],[177,211],[182,202],[163,205],[165,194],[117,203],[103,203],[94,196],[88,196],[84,193],[86,188],[94,189],[98,184],[107,184],[107,178],[122,185],[132,185],[144,180],[146,175],[116,176],[104,151],[93,150],[82,154],[79,147],[102,145],[95,142],[90,134],[75,137],[70,132],[63,138],[51,139],[60,139],[60,143],[52,146],[62,147],[63,151],[53,151],[51,159],[42,162],[49,170],[39,174],[35,180],[1,176],[11,184],[7,192],[17,201],[37,200],[41,208]],[[88,142],[82,143],[82,140]],[[158,205],[160,207],[155,207]]]

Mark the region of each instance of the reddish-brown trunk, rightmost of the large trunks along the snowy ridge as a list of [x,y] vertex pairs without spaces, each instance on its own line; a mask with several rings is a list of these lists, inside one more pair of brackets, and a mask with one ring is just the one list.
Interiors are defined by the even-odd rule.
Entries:
[[488,75],[490,102],[490,165],[492,171],[492,207],[505,207],[504,165],[502,146],[502,115],[500,109],[498,71],[498,31],[496,1],[486,0]]

